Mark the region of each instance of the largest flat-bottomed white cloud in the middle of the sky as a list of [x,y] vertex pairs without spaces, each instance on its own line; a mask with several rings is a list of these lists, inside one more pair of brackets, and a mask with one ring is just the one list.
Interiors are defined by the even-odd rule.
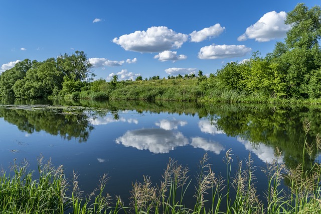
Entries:
[[112,41],[126,51],[154,53],[181,48],[187,40],[188,35],[159,26],[148,28],[146,31],[125,34]]

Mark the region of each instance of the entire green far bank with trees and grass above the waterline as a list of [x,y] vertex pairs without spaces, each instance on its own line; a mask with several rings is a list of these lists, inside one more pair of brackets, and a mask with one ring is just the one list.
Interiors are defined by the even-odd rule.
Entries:
[[28,59],[0,76],[3,97],[68,96],[73,99],[217,100],[256,102],[275,98],[321,97],[321,9],[298,4],[287,14],[291,26],[284,42],[272,53],[231,62],[209,77],[195,74],[167,79],[139,76],[136,81],[92,81],[91,64],[84,52],[61,55],[44,62]]

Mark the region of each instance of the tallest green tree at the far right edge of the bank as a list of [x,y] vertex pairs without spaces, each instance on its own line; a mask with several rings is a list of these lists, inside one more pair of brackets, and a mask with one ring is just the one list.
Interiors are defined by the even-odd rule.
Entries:
[[[277,44],[272,61],[281,68],[285,75],[286,94],[295,98],[314,97],[311,94],[315,84],[315,72],[321,66],[321,10],[319,6],[308,9],[304,4],[298,4],[287,14],[285,24],[291,25],[287,32],[285,43]],[[274,59],[273,59],[274,58]],[[310,79],[313,81],[310,81]]]

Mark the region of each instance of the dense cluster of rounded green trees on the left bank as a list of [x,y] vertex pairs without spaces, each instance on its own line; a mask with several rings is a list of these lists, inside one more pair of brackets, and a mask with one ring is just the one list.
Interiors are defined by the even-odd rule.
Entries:
[[80,91],[92,80],[91,64],[84,52],[60,55],[43,62],[25,59],[2,73],[0,95],[45,98]]

